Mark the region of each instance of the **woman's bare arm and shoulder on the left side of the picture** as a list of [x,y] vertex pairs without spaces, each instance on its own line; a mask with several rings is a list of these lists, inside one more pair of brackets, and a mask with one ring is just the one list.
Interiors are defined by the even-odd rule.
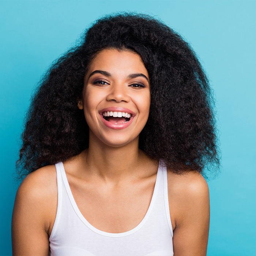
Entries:
[[49,255],[48,231],[57,211],[57,186],[50,186],[54,180],[50,181],[44,170],[38,171],[29,174],[16,193],[12,214],[13,255]]

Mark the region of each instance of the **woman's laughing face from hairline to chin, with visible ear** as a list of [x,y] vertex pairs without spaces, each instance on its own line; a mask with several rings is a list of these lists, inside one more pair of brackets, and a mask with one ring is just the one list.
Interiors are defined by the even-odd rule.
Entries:
[[99,52],[84,77],[78,106],[90,133],[103,143],[120,147],[138,139],[150,108],[149,77],[140,56],[129,50]]

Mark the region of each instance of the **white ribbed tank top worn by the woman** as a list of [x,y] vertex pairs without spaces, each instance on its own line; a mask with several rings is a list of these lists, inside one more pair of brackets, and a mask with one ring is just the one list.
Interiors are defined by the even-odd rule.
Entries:
[[173,256],[167,172],[159,163],[150,206],[134,229],[108,233],[92,226],[79,211],[63,163],[57,163],[58,208],[50,235],[51,256]]

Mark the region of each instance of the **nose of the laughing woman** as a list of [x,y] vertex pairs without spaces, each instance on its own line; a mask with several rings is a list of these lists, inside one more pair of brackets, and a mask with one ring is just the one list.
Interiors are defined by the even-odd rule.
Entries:
[[127,95],[127,88],[122,83],[112,84],[106,99],[107,101],[115,101],[115,102],[130,101],[129,96]]

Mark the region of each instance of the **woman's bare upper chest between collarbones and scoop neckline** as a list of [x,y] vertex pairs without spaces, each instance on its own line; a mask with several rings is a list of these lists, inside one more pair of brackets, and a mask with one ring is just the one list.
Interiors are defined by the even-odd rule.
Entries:
[[76,205],[95,228],[108,233],[132,230],[145,217],[154,193],[155,177],[143,182],[108,187],[69,179]]

